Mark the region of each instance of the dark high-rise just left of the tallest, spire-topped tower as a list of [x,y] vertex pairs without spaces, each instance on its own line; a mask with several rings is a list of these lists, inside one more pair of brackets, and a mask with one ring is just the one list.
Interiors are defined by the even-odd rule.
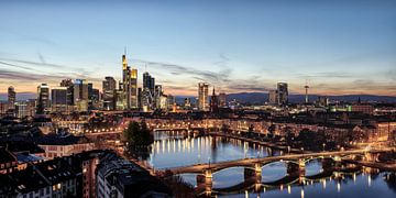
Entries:
[[116,109],[116,86],[117,81],[111,76],[107,76],[102,82],[103,109],[106,110]]

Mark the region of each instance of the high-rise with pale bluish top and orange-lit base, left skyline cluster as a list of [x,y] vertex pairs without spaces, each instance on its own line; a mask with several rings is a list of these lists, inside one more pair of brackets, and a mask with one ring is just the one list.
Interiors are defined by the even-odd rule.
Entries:
[[88,110],[88,82],[86,79],[76,79],[74,84],[74,105],[78,111]]

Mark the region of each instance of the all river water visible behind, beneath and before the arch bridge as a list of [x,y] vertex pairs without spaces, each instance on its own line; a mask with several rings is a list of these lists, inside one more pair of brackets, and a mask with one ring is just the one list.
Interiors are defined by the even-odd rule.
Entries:
[[[248,144],[243,141],[223,138],[200,136],[185,139],[183,134],[157,134],[153,144],[150,163],[155,168],[168,168],[193,165],[197,163],[222,162],[244,157],[279,155],[278,151]],[[321,173],[320,160],[306,164],[306,176]],[[283,162],[272,163],[262,168],[262,183],[278,180],[286,175],[286,165]],[[337,173],[332,178],[320,178],[316,182],[306,180],[305,185],[292,184],[270,186],[260,191],[252,188],[233,194],[216,194],[218,197],[396,197],[396,176],[393,182],[386,182],[389,173]],[[182,178],[197,187],[197,174],[182,174]],[[337,176],[337,178],[334,177]],[[213,174],[212,189],[222,189],[244,183],[244,168],[233,167]]]

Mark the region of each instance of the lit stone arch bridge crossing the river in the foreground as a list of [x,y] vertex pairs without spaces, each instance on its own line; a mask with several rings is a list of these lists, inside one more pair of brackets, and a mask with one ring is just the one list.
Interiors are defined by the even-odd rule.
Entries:
[[[360,156],[365,162],[375,162],[381,153],[387,151],[388,150],[351,150],[321,153],[289,154],[280,156],[267,156],[262,158],[242,158],[237,161],[227,161],[212,164],[195,164],[191,166],[175,167],[168,170],[174,174],[197,174],[198,187],[196,191],[199,191],[199,194],[205,193],[206,195],[211,195],[211,193],[215,191],[233,191],[252,185],[256,190],[258,190],[266,185],[292,185],[298,180],[300,183],[306,179],[315,180],[317,177],[327,176],[329,173],[339,170],[336,165],[341,163],[343,160],[356,158],[358,156]],[[314,176],[305,176],[305,166],[309,161],[312,160],[323,160],[323,172]],[[262,183],[262,168],[276,162],[285,163],[287,169],[286,176],[279,180],[268,184]],[[230,187],[230,189],[213,189],[212,175],[221,172],[222,169],[232,167],[244,167],[245,182]]]

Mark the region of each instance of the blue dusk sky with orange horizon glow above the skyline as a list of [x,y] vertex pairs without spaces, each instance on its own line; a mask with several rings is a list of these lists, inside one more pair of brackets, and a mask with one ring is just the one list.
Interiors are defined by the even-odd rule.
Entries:
[[0,92],[121,78],[121,55],[166,94],[396,96],[396,1],[0,1]]

